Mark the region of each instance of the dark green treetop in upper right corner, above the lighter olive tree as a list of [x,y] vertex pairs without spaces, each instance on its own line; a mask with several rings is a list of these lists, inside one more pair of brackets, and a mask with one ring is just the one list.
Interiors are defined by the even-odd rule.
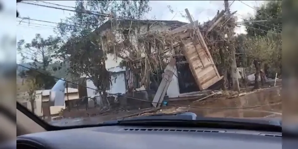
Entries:
[[265,22],[250,22],[246,23],[246,31],[248,37],[265,36],[269,30],[281,33],[282,32],[282,1],[267,1],[261,7],[256,8],[256,14],[245,21]]

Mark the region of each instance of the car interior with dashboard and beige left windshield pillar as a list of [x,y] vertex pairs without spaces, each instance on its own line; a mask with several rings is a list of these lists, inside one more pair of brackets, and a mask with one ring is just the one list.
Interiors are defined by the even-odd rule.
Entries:
[[[179,125],[51,126],[17,103],[13,111],[1,112],[0,149],[62,148],[282,148],[282,132],[228,127],[180,127]],[[1,108],[2,109],[2,108]],[[296,138],[297,139],[297,138]],[[292,141],[291,141],[292,140]],[[287,139],[287,148],[297,142]]]

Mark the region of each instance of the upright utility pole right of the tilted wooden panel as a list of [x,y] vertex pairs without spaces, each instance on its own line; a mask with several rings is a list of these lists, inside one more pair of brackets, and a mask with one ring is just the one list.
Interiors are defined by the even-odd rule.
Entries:
[[[231,17],[230,16],[231,12],[230,12],[230,8],[229,8],[229,1],[224,0],[224,3],[225,3],[226,15]],[[237,70],[236,57],[235,57],[236,52],[235,52],[234,45],[231,44],[231,39],[233,38],[233,32],[234,32],[234,27],[231,27],[228,31],[228,41],[230,43],[228,48],[231,51],[231,55],[232,55],[231,76],[232,76],[232,81],[233,81],[233,90],[240,92],[239,80],[238,80],[238,70]]]

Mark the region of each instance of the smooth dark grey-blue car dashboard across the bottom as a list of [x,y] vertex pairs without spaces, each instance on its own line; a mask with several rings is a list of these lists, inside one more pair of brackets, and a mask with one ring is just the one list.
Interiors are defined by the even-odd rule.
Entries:
[[101,126],[18,136],[16,146],[27,149],[280,149],[282,133],[211,128]]

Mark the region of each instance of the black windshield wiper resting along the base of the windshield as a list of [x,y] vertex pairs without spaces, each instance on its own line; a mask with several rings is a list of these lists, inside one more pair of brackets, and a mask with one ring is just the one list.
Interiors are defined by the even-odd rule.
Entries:
[[107,121],[103,124],[130,126],[205,127],[282,132],[281,122],[278,120],[273,121],[263,119],[196,117],[196,114],[191,112],[131,117]]

